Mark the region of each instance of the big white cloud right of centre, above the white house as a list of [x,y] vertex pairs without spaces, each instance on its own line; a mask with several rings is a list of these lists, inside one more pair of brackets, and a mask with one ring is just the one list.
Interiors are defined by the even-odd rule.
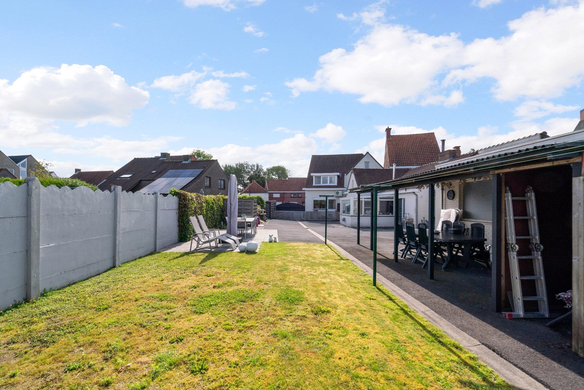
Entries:
[[431,36],[404,26],[380,25],[353,51],[335,49],[321,56],[321,68],[312,81],[297,78],[286,85],[293,96],[325,89],[361,95],[362,103],[419,102],[432,95],[437,75],[459,64],[462,48],[455,34]]

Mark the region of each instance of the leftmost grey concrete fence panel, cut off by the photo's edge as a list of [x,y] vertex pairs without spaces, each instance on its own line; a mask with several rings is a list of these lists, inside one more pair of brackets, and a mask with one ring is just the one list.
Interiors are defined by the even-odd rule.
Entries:
[[0,184],[0,310],[26,299],[27,186]]

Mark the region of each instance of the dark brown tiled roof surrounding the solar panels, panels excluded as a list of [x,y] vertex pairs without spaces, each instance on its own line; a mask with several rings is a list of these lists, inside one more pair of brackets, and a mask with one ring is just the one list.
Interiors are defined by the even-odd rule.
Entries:
[[[130,191],[136,185],[138,186],[135,189],[143,188],[144,186],[140,186],[140,181],[153,181],[164,175],[168,170],[202,169],[203,172],[197,176],[199,178],[205,174],[211,165],[218,164],[217,160],[194,160],[183,164],[182,159],[183,156],[171,156],[171,158],[163,160],[161,160],[160,156],[134,158],[119,170],[109,175],[106,181],[99,185],[99,189],[109,191],[112,185],[120,185],[122,191]],[[129,178],[120,179],[121,175],[129,173],[132,174]],[[193,180],[196,180],[196,178]]]

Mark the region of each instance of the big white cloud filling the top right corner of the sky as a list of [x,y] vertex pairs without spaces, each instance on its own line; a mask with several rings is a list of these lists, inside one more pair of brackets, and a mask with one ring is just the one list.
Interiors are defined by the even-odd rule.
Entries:
[[507,24],[509,36],[468,44],[467,67],[451,71],[447,82],[493,78],[493,94],[500,100],[560,96],[584,77],[582,20],[584,2],[526,12]]

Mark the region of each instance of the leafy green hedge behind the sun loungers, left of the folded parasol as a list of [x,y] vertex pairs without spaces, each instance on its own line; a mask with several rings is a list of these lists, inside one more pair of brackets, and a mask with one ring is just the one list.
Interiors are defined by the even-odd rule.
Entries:
[[225,196],[193,194],[176,188],[168,193],[179,198],[179,241],[190,241],[193,235],[189,217],[202,215],[209,229],[225,225]]

